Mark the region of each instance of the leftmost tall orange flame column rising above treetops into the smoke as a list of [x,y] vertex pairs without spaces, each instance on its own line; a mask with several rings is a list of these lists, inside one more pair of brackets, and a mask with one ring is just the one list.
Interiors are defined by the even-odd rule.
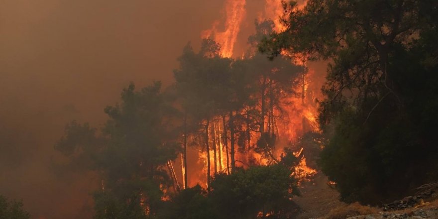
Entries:
[[246,0],[227,0],[225,2],[225,29],[218,30],[219,21],[213,27],[202,32],[202,38],[213,38],[221,46],[222,57],[230,58],[233,55],[234,44],[240,30],[240,24],[245,16]]

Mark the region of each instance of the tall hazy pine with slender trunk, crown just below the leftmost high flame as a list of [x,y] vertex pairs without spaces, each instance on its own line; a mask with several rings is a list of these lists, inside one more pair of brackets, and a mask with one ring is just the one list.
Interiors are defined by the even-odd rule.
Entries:
[[[204,135],[203,144],[205,145],[206,154],[208,154],[206,159],[208,187],[210,185],[211,176],[210,139],[213,139],[212,146],[214,157],[216,158],[215,122],[218,114],[221,115],[225,111],[223,97],[228,96],[228,90],[226,88],[230,81],[231,60],[220,57],[219,49],[219,44],[211,39],[205,39],[203,41],[199,53],[195,53],[189,44],[184,49],[183,55],[179,58],[180,68],[175,70],[175,87],[178,91],[184,114],[192,118],[192,126],[197,126],[198,130],[202,130],[201,132]],[[185,122],[187,122],[187,120],[185,120]],[[187,125],[187,123],[185,123],[185,125]],[[187,134],[188,133],[184,133],[185,136]],[[194,134],[196,134],[196,132]],[[187,140],[185,140],[185,142],[186,141]],[[233,144],[231,144],[231,159],[233,159],[232,151]],[[216,174],[216,159],[214,167]]]

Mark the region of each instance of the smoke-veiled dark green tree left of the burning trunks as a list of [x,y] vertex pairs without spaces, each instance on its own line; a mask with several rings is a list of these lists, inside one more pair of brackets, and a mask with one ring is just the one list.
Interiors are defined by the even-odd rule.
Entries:
[[159,82],[141,91],[130,84],[121,103],[105,109],[109,119],[101,133],[73,121],[55,145],[71,163],[100,175],[102,189],[94,194],[97,219],[152,217],[162,189],[173,185],[164,167],[179,148],[173,123],[178,112],[160,90]]

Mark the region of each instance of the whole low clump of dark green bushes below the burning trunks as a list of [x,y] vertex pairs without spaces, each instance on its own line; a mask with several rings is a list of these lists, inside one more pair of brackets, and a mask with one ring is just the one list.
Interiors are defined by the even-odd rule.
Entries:
[[218,174],[211,187],[211,193],[199,185],[182,191],[158,217],[253,219],[268,213],[266,218],[288,218],[294,214],[291,198],[298,194],[298,189],[290,169],[282,164],[252,166],[231,175]]

